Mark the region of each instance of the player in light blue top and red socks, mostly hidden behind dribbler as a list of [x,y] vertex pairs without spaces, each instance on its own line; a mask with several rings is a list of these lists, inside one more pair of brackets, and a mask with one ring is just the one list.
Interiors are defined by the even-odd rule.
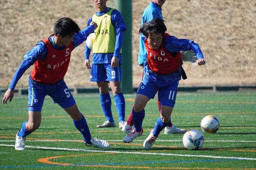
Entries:
[[[152,0],[149,3],[149,5],[145,8],[142,14],[141,25],[156,18],[163,19],[162,6],[164,2],[165,0]],[[143,35],[140,34],[140,48],[139,48],[138,62],[139,62],[139,65],[143,67],[147,61],[147,52],[146,52],[144,41],[141,39],[142,36]],[[143,72],[142,72],[142,77],[143,77]],[[157,100],[157,103],[158,103],[159,111],[161,112],[161,105],[159,100]],[[127,119],[127,122],[125,122],[122,128],[122,131],[127,134],[132,131],[132,126],[133,126],[133,120],[132,120],[132,112],[131,112],[131,114]],[[170,121],[168,126],[166,126],[164,129],[164,134],[175,134],[175,133],[185,133],[185,132],[186,132],[186,129],[177,128],[172,124],[172,121]]]

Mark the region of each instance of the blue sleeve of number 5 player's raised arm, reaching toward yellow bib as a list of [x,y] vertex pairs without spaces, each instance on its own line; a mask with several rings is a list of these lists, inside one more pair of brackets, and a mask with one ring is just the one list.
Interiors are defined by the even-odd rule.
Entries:
[[94,31],[93,25],[85,27],[79,33],[76,33],[74,36],[74,48],[79,46],[82,42],[87,39],[87,36]]

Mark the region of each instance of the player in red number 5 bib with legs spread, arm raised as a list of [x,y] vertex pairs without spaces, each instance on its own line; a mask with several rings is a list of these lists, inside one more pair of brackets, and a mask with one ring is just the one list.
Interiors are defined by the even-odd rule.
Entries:
[[70,18],[60,18],[54,25],[54,34],[39,41],[34,48],[27,52],[12,83],[4,94],[3,104],[14,96],[14,88],[23,73],[34,64],[34,69],[28,78],[28,122],[24,122],[16,134],[15,149],[25,150],[26,137],[39,128],[41,124],[41,110],[46,95],[54,103],[58,103],[73,119],[73,123],[84,137],[86,146],[108,148],[105,140],[92,138],[84,115],[78,110],[76,101],[69,91],[64,76],[68,70],[71,52],[84,42],[87,36],[97,28],[91,22],[82,31]]

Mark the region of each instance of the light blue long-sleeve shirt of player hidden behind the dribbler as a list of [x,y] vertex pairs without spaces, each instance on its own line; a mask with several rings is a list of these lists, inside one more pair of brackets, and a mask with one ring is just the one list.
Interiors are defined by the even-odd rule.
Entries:
[[[156,18],[163,19],[162,9],[157,4],[150,2],[142,14],[141,25],[146,22],[152,21],[153,19],[156,19]],[[144,41],[142,41],[141,35],[140,35],[138,63],[139,65],[143,65],[146,62],[147,62],[147,52],[146,52]]]

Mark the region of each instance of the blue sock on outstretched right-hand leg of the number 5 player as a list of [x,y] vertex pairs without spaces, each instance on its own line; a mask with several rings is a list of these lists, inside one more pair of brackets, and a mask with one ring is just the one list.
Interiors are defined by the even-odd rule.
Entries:
[[91,133],[90,133],[90,130],[89,130],[89,127],[87,125],[87,122],[84,118],[84,115],[82,114],[83,118],[79,121],[75,121],[73,120],[73,123],[76,127],[77,130],[79,130],[81,132],[81,134],[83,135],[84,137],[84,141],[87,143],[87,144],[91,144]]

